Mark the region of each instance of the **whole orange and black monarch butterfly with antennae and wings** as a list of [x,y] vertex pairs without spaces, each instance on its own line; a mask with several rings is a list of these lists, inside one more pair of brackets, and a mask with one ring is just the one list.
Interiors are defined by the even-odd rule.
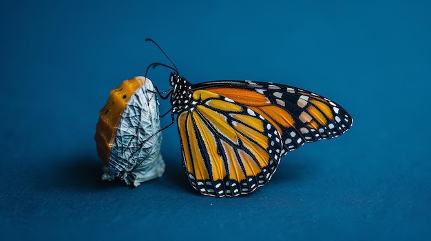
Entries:
[[[157,43],[147,38],[162,51]],[[177,114],[182,162],[194,187],[208,196],[239,196],[265,185],[280,159],[306,142],[337,137],[353,119],[326,97],[284,84],[211,81],[191,84],[172,69],[165,91]],[[149,69],[147,68],[147,71]],[[157,88],[156,88],[157,90]],[[171,124],[172,124],[171,123]]]

